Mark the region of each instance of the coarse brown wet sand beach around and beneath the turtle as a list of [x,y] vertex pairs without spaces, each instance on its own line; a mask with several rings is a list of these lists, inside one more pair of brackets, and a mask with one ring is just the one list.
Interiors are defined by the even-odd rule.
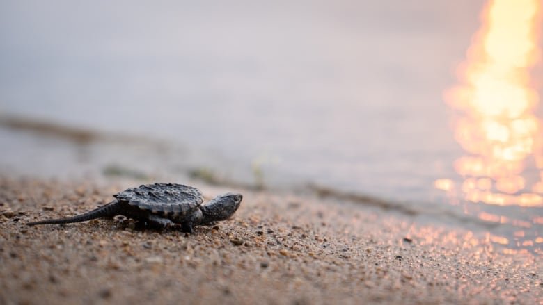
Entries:
[[[0,304],[543,302],[537,256],[331,199],[240,190],[233,219],[192,235],[122,217],[25,225],[140,183],[0,178]],[[207,199],[227,190],[191,184]]]

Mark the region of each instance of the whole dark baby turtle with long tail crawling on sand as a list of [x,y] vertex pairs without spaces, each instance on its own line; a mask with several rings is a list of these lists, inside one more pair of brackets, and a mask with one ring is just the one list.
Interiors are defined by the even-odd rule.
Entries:
[[93,211],[74,217],[30,222],[36,224],[68,224],[101,217],[125,215],[150,226],[164,228],[181,224],[181,229],[192,233],[193,226],[226,220],[242,202],[241,194],[228,192],[202,205],[203,195],[192,186],[174,183],[155,183],[129,188],[113,195],[116,199]]

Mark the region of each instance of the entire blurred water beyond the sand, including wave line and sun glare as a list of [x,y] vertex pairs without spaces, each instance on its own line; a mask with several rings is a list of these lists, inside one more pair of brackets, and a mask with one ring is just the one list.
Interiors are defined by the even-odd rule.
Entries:
[[[490,98],[487,111],[464,102],[485,94],[459,94],[485,75],[477,49],[489,50],[498,2],[2,1],[0,171],[325,189],[467,219],[542,253],[540,1],[506,8],[505,28],[527,30],[496,42],[529,42],[512,53],[532,59],[511,64],[527,104]],[[487,126],[474,117],[529,125],[521,153],[459,138]]]

